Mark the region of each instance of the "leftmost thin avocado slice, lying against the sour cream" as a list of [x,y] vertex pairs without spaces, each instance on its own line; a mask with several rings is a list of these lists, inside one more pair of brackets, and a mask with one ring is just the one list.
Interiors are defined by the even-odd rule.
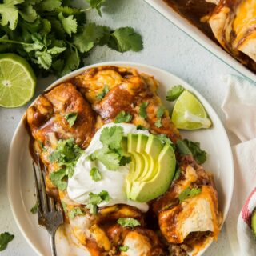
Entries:
[[[132,158],[132,162],[130,165],[130,172],[126,177],[128,184],[134,180],[136,180],[144,170],[144,158],[142,154],[138,154],[136,152],[138,145],[138,134],[127,134],[127,152],[130,154]],[[129,190],[129,185],[126,185],[126,191]],[[128,192],[129,193],[129,192]]]

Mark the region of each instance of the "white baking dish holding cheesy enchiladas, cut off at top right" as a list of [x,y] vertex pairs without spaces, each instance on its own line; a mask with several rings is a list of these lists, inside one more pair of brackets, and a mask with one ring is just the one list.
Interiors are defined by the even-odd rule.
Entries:
[[254,0],[145,1],[223,62],[256,81]]

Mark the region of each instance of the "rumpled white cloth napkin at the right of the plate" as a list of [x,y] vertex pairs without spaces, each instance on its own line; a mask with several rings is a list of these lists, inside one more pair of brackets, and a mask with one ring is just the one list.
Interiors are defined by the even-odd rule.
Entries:
[[246,78],[226,75],[227,94],[222,104],[226,128],[239,140],[233,146],[234,194],[226,230],[234,256],[256,255],[250,216],[256,206],[256,85]]

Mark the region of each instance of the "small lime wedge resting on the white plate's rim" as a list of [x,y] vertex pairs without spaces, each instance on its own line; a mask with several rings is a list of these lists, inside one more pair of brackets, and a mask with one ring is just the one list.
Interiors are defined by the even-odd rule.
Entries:
[[188,90],[178,97],[171,120],[178,129],[183,130],[209,128],[212,125],[202,103]]

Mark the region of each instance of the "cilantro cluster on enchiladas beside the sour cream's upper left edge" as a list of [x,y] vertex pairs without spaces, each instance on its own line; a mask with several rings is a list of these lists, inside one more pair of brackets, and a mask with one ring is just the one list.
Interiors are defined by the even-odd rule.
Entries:
[[[49,156],[50,162],[57,162],[62,170],[66,170],[69,177],[73,176],[74,166],[83,150],[74,144],[74,139],[59,140],[56,150]],[[63,178],[63,177],[62,177]]]

